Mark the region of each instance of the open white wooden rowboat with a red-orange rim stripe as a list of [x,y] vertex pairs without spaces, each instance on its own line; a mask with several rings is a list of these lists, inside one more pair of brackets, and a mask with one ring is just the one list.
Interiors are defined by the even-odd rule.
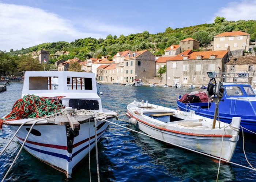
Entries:
[[127,112],[131,118],[129,123],[163,141],[227,161],[234,154],[241,118],[233,118],[230,126],[220,122],[220,128],[217,122],[216,128],[212,129],[212,119],[195,115],[193,111],[179,111],[134,101],[127,106]]

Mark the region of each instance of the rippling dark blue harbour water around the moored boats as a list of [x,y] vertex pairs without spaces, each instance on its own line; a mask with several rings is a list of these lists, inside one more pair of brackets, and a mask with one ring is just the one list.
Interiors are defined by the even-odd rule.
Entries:
[[[11,110],[20,98],[21,83],[13,83],[7,92],[0,94],[0,116]],[[125,116],[127,104],[133,100],[148,100],[150,103],[176,108],[176,99],[192,90],[188,88],[129,87],[102,84],[103,107],[118,112],[119,120],[113,120],[123,126],[128,124]],[[12,137],[7,126],[0,132],[0,150]],[[245,138],[245,151],[249,161],[256,166],[255,137]],[[20,145],[17,140],[11,143],[0,157],[0,179],[10,166]],[[166,145],[144,135],[127,131],[110,124],[98,144],[101,181],[215,181],[218,162],[209,157],[193,153],[174,146]],[[240,137],[232,159],[233,162],[248,166],[242,151]],[[91,155],[92,180],[97,181],[95,152]],[[64,173],[42,163],[25,150],[8,175],[11,181],[89,181],[89,161],[86,158],[67,180]],[[255,181],[256,172],[242,167],[221,164],[219,181]]]

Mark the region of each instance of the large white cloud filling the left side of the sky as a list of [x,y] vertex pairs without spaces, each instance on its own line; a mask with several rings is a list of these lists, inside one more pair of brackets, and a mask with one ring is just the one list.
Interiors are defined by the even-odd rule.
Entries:
[[90,17],[83,17],[88,21],[84,21],[83,28],[80,28],[76,27],[74,22],[57,14],[24,5],[0,2],[0,9],[0,50],[2,51],[27,48],[44,42],[70,42],[84,37],[99,38],[109,33],[120,35],[123,32],[129,34],[135,31],[97,20],[91,21]]

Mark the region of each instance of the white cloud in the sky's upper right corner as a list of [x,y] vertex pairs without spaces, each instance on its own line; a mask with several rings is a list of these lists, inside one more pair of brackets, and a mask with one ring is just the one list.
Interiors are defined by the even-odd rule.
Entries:
[[211,19],[214,22],[216,16],[225,17],[226,20],[256,20],[256,0],[241,0],[228,3],[227,6],[222,7]]

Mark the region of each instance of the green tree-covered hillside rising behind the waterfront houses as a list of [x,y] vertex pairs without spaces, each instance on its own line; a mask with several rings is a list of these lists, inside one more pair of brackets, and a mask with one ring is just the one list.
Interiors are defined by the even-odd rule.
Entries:
[[[130,34],[128,36],[108,35],[106,39],[94,39],[87,37],[77,39],[71,43],[59,41],[54,43],[43,43],[37,46],[22,50],[12,51],[10,55],[26,54],[41,49],[49,50],[50,54],[59,50],[69,51],[68,56],[60,56],[58,59],[69,59],[75,56],[79,59],[98,57],[101,55],[115,55],[117,51],[144,50],[148,49],[154,54],[162,54],[165,48],[171,44],[178,44],[180,40],[193,37],[200,42],[200,47],[205,47],[213,40],[214,36],[229,31],[242,31],[251,34],[251,40],[256,39],[256,20],[225,21],[224,18],[217,17],[215,23],[201,24],[191,27],[166,28],[165,32],[150,34],[148,31]],[[55,62],[56,60],[50,60]]]

